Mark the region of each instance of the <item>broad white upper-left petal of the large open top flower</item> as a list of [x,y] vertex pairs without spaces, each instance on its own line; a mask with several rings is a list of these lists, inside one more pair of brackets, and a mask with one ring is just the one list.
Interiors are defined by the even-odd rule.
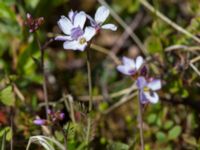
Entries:
[[58,26],[67,35],[70,35],[71,29],[73,28],[71,21],[65,16],[61,16],[61,19],[58,21]]

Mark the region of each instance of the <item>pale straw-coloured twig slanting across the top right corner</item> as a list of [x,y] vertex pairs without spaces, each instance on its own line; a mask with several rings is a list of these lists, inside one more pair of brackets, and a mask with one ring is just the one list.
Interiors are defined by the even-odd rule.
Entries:
[[170,26],[172,26],[174,29],[176,29],[177,31],[185,34],[186,36],[188,36],[190,38],[192,38],[196,42],[200,43],[200,39],[198,37],[194,36],[192,33],[188,32],[187,30],[185,30],[181,26],[177,25],[175,22],[171,21],[169,18],[167,18],[161,12],[159,12],[158,10],[156,10],[152,5],[150,5],[146,0],[140,0],[140,3],[144,7],[146,7],[149,11],[151,11],[152,13],[155,13],[156,16],[158,16],[164,22],[166,22],[167,24],[169,24]]

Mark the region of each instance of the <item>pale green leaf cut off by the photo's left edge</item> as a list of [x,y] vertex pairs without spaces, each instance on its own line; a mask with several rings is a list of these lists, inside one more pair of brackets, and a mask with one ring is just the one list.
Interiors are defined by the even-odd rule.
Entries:
[[7,106],[14,106],[15,97],[13,94],[12,86],[9,85],[0,92],[0,100]]

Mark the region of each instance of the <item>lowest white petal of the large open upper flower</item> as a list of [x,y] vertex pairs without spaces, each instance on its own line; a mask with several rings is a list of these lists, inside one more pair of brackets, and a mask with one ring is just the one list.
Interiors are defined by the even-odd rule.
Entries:
[[80,44],[79,41],[66,41],[63,44],[64,49],[67,50],[80,50],[84,51],[87,46],[87,43]]

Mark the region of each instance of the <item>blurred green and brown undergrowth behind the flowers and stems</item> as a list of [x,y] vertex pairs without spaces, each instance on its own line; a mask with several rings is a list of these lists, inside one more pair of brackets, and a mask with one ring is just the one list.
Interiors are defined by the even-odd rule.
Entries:
[[[200,149],[200,80],[189,66],[190,60],[199,56],[199,44],[149,12],[139,0],[108,0],[107,3],[127,25],[137,22],[135,33],[147,49],[149,74],[162,79],[160,102],[144,109],[145,149]],[[149,3],[200,37],[199,0],[152,0]],[[36,115],[44,117],[45,113],[40,51],[34,34],[24,26],[26,14],[44,17],[44,24],[37,33],[41,43],[45,43],[61,33],[57,26],[61,15],[67,16],[72,9],[93,16],[98,6],[95,0],[0,0],[0,139],[3,143],[6,136],[7,148],[12,134],[17,150],[25,149],[30,136],[44,133],[32,123]],[[135,19],[136,16],[140,17]],[[102,31],[94,43],[113,51],[125,30],[112,17],[107,21],[118,26],[117,32]],[[119,58],[143,55],[131,38],[122,43],[114,52]],[[166,48],[173,45],[187,48],[166,52]],[[195,48],[197,50],[190,50]],[[109,114],[102,113],[122,97],[111,98],[109,94],[129,88],[133,81],[118,73],[114,62],[105,54],[91,51],[91,55],[93,95],[103,96],[94,101],[92,149],[139,149],[136,97]],[[198,62],[195,66],[200,68]],[[68,147],[78,149],[85,137],[86,117],[80,114],[85,113],[87,106],[81,98],[88,95],[86,53],[66,51],[62,42],[54,41],[45,49],[45,70],[53,109],[66,110],[60,99],[67,94],[73,97],[76,123],[70,126]],[[69,122],[68,118],[65,125]],[[55,137],[63,142],[56,128]],[[33,149],[42,148],[35,145]]]

